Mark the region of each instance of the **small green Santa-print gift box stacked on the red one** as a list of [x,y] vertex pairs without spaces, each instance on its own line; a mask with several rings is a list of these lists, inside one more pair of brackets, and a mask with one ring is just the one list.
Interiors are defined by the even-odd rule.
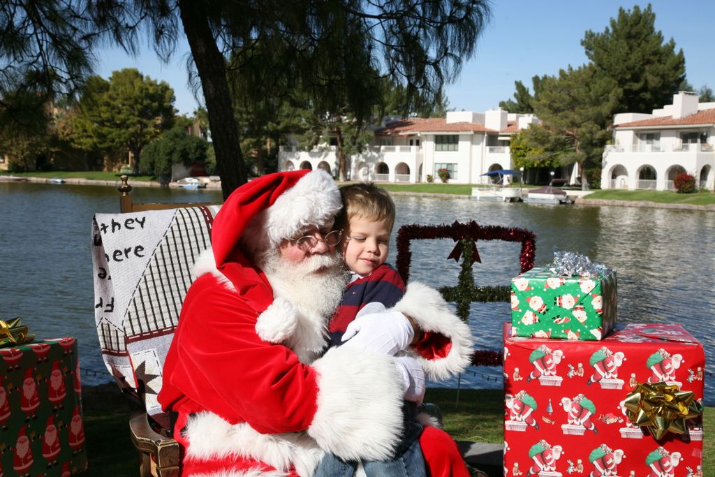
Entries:
[[616,272],[559,276],[532,268],[511,280],[512,336],[601,340],[616,324]]

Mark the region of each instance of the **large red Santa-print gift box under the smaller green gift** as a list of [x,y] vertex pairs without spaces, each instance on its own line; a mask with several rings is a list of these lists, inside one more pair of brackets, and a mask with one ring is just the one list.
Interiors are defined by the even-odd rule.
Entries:
[[513,338],[504,328],[505,476],[702,476],[701,419],[656,441],[626,417],[636,383],[702,403],[703,346],[680,325],[619,325],[601,341]]

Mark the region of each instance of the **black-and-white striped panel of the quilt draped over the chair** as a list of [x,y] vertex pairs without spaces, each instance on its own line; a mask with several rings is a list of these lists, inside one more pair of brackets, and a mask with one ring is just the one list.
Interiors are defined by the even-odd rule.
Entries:
[[176,328],[184,297],[196,278],[192,275],[194,262],[211,244],[214,214],[207,207],[177,209],[124,315],[127,343]]

